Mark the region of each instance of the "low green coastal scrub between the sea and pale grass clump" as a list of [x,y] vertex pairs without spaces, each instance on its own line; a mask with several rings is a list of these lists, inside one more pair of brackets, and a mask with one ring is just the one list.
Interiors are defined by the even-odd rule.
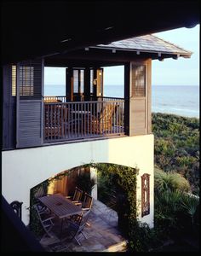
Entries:
[[199,194],[199,119],[152,113],[155,166],[177,172]]

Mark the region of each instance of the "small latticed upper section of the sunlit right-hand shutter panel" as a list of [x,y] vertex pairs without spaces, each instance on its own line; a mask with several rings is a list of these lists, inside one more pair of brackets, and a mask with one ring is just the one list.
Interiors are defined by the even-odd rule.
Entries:
[[146,66],[133,67],[132,96],[146,96]]

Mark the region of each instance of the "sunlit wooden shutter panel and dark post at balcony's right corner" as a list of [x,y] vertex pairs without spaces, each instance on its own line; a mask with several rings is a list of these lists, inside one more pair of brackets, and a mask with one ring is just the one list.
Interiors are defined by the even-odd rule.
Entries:
[[124,127],[129,136],[152,132],[151,64],[147,59],[124,66]]

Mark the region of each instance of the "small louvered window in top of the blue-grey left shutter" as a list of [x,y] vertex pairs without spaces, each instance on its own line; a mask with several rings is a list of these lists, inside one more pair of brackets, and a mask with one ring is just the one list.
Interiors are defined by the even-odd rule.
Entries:
[[34,67],[20,67],[20,96],[33,96]]

